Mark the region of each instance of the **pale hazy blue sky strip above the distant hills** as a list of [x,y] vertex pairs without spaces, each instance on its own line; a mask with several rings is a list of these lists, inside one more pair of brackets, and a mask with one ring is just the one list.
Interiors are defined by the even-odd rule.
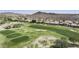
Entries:
[[0,10],[0,13],[13,12],[20,14],[33,14],[35,12],[59,13],[59,14],[79,14],[79,10]]

